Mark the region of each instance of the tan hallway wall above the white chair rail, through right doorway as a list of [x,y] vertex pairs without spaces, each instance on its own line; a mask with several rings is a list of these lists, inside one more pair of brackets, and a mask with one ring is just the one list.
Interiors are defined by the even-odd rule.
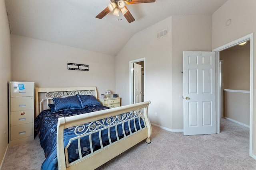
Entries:
[[223,89],[250,90],[250,48],[244,50],[224,50]]

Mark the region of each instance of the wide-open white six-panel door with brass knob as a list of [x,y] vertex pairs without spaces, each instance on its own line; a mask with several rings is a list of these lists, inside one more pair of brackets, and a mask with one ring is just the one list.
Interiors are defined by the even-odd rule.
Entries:
[[184,135],[216,133],[215,52],[183,52]]

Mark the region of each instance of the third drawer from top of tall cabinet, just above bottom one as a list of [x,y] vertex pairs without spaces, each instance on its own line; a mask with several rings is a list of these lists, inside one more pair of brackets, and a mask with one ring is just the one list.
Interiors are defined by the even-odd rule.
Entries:
[[33,122],[33,110],[12,111],[11,126]]

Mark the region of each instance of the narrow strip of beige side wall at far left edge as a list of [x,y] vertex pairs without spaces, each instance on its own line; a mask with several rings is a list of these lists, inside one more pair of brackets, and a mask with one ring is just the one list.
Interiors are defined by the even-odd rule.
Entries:
[[[0,164],[8,146],[8,82],[11,79],[10,29],[4,0],[0,0]],[[6,132],[6,137],[4,136]],[[1,167],[0,167],[1,169]]]

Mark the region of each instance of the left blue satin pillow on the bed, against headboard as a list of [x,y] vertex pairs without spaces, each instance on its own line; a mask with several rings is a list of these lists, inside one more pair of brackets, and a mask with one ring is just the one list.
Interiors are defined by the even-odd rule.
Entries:
[[82,108],[78,96],[68,96],[66,98],[53,98],[52,100],[55,112]]

